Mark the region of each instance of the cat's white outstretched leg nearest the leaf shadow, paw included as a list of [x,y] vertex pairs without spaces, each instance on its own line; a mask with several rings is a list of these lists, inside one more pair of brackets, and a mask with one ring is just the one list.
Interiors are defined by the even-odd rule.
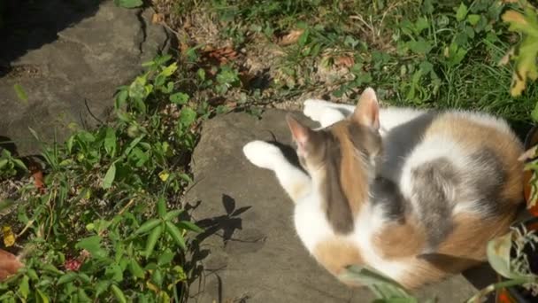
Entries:
[[242,148],[245,157],[257,167],[273,170],[289,197],[297,202],[311,192],[311,178],[291,164],[281,149],[265,141],[252,141]]

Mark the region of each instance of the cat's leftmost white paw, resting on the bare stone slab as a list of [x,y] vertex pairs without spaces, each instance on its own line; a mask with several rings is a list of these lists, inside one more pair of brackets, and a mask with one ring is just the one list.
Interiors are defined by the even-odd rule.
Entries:
[[257,167],[274,170],[283,160],[284,154],[280,148],[264,141],[251,141],[242,147],[242,152],[250,163]]

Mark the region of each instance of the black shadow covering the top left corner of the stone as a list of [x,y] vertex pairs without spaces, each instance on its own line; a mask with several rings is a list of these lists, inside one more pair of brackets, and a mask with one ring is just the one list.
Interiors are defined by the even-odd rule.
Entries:
[[[58,39],[58,32],[93,16],[101,1],[0,1],[0,77],[12,61]],[[54,16],[54,17],[52,17]]]

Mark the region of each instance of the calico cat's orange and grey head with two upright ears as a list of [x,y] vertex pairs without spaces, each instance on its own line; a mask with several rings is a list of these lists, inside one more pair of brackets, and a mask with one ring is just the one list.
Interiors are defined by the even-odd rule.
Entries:
[[[333,125],[314,130],[291,114],[286,117],[301,165],[309,174],[327,170],[359,169],[369,175],[381,152],[379,104],[375,91],[365,89],[354,113]],[[352,167],[343,167],[346,166]]]

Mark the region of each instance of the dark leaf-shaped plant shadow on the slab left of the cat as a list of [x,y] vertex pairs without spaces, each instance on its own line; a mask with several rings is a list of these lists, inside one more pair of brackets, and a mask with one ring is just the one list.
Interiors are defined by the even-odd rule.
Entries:
[[[186,206],[186,213],[196,209],[201,203],[202,201],[197,201],[194,206]],[[236,207],[235,199],[227,194],[222,195],[222,206],[224,208],[224,214],[196,221],[196,225],[203,228],[204,232],[198,234],[193,241],[190,247],[190,258],[184,266],[185,271],[189,273],[188,284],[192,285],[197,281],[199,284],[197,287],[199,293],[204,292],[205,276],[215,275],[217,277],[219,284],[219,299],[217,302],[222,301],[222,280],[219,276],[219,271],[225,269],[226,265],[216,268],[204,267],[203,260],[211,253],[211,249],[204,248],[204,240],[211,236],[221,237],[223,247],[226,247],[230,241],[243,241],[234,238],[234,232],[237,229],[242,229],[241,215],[251,207]],[[189,297],[196,297],[196,295],[196,293],[189,293]]]

